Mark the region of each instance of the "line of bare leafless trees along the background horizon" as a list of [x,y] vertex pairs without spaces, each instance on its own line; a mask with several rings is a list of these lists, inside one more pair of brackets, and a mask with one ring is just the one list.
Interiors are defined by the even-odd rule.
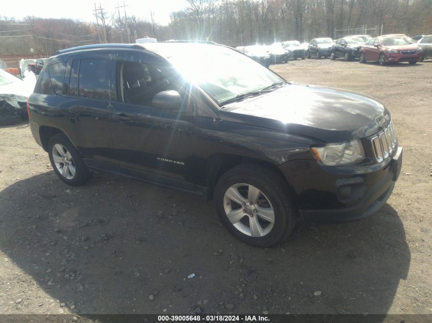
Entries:
[[[0,17],[0,55],[52,54],[93,43],[200,39],[231,46],[309,41],[335,30],[382,25],[383,34],[432,34],[432,0],[187,0],[166,26],[152,19],[95,11],[98,24],[74,19]],[[347,31],[345,31],[347,33]]]

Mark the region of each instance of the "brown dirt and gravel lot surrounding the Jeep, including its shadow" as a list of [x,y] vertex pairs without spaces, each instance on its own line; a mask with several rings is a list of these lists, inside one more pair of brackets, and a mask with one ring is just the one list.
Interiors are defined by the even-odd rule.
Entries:
[[105,173],[68,187],[28,125],[0,128],[0,313],[432,313],[432,61],[272,68],[390,108],[404,164],[377,214],[257,249],[187,193]]

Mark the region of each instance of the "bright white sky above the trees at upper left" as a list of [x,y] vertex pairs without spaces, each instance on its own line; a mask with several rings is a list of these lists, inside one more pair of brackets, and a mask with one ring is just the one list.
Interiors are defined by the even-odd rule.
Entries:
[[[187,7],[185,0],[124,0],[126,14],[145,18],[150,21],[150,10],[154,12],[156,23],[168,24],[170,13]],[[72,18],[81,21],[96,21],[94,16],[95,0],[1,0],[0,16],[21,19],[26,16],[42,18]],[[108,13],[118,15],[117,0],[98,0],[96,6]],[[119,0],[123,6],[123,0]],[[124,8],[120,8],[120,15],[124,15]]]

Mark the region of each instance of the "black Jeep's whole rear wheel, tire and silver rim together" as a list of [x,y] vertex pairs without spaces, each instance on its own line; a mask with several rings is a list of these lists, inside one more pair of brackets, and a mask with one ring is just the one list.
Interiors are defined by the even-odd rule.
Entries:
[[57,176],[67,185],[83,185],[93,175],[88,171],[77,149],[63,134],[56,134],[50,138],[48,155]]

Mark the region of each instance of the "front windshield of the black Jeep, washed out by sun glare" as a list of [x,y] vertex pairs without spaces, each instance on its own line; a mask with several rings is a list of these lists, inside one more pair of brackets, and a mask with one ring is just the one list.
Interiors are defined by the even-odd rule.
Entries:
[[[178,44],[180,45],[180,44]],[[260,63],[233,49],[204,44],[175,46],[168,60],[220,105],[242,93],[283,81]]]

